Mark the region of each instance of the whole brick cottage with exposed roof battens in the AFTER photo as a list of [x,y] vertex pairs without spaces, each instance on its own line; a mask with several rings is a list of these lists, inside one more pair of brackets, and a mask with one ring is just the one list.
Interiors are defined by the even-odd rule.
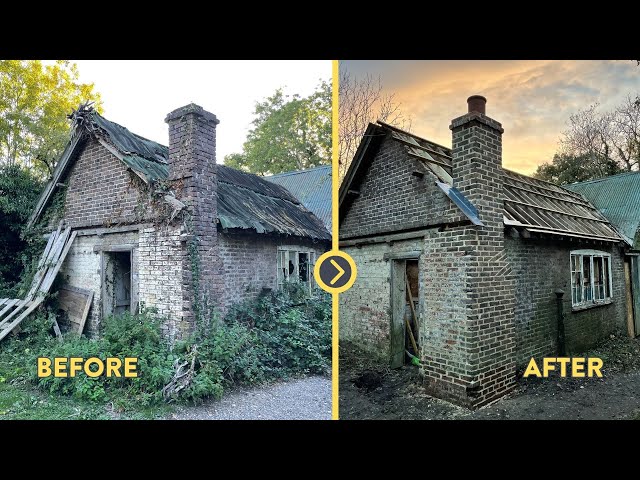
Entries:
[[427,388],[469,407],[512,389],[531,357],[625,328],[630,288],[630,245],[582,195],[504,169],[485,105],[468,99],[452,149],[370,124],[340,188],[340,246],[358,266],[341,340],[393,367],[415,340]]

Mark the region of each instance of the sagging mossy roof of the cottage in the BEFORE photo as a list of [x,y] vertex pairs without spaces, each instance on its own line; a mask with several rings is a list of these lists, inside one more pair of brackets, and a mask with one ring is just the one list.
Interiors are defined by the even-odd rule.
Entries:
[[[81,108],[72,117],[71,140],[38,201],[29,220],[30,225],[42,214],[55,185],[73,164],[87,136],[96,138],[145,183],[168,178],[169,149],[166,146],[130,132],[91,108]],[[322,222],[286,188],[224,165],[218,165],[217,172],[220,227],[317,240],[331,238]]]

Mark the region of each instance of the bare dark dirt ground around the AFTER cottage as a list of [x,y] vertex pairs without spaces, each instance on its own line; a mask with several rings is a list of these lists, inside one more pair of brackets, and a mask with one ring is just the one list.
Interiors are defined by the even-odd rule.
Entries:
[[584,356],[603,378],[520,378],[508,396],[476,411],[430,397],[418,367],[391,370],[340,346],[340,419],[640,419],[640,340],[612,336]]

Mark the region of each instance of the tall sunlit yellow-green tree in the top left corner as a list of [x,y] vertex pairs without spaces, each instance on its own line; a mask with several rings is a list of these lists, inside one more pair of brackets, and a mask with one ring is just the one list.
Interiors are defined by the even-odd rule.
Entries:
[[64,60],[0,60],[0,164],[51,174],[68,140],[67,114],[89,100],[101,111],[93,84],[78,77]]

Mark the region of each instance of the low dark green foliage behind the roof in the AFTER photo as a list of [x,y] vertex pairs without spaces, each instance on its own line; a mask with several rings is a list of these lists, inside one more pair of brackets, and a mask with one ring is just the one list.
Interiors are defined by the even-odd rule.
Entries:
[[[594,161],[594,158],[597,160]],[[533,176],[556,185],[567,185],[616,175],[621,171],[615,161],[610,158],[601,158],[598,154],[575,156],[568,153],[556,153],[553,156],[553,161],[540,165]]]

